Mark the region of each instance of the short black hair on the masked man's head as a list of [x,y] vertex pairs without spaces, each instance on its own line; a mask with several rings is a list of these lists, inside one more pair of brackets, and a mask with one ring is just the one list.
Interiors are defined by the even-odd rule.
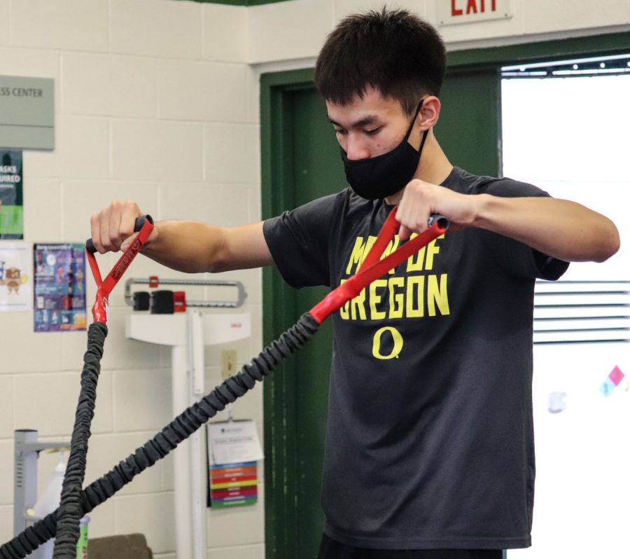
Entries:
[[414,113],[424,95],[439,95],[446,48],[435,28],[406,10],[349,15],[332,30],[315,66],[327,101],[348,104],[372,86]]

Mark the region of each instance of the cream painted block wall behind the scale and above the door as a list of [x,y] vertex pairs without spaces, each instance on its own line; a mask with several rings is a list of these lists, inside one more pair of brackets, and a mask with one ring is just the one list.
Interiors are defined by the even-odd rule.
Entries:
[[[24,154],[25,240],[83,242],[90,214],[114,198],[137,200],[156,219],[260,219],[258,75],[311,66],[339,18],[380,4],[0,0],[0,74],[55,79],[57,147]],[[398,5],[435,22],[432,0]],[[514,0],[513,11],[508,21],[441,31],[454,49],[621,30],[630,22],[630,0]],[[99,261],[109,270],[114,259]],[[128,274],[179,276],[144,258]],[[251,340],[233,345],[243,364],[262,343],[260,273],[225,277],[245,282],[253,313]],[[126,340],[128,313],[121,286],[112,298],[86,482],[172,418],[169,353]],[[69,436],[85,351],[83,333],[34,334],[32,321],[31,313],[0,315],[0,541],[12,534],[13,429],[39,429],[47,440]],[[219,353],[207,352],[207,387],[221,382]],[[235,413],[262,425],[260,387]],[[53,462],[42,455],[40,485]],[[209,511],[208,557],[262,559],[262,509],[261,500]],[[91,516],[90,536],[144,532],[158,558],[174,558],[170,458]]]

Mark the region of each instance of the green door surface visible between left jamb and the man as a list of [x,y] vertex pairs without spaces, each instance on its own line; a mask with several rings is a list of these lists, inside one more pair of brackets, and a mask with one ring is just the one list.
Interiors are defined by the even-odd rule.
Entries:
[[[301,205],[345,186],[339,146],[325,118],[325,104],[312,88],[297,90],[289,99],[292,111],[293,205]],[[329,291],[326,287],[293,291],[295,319]],[[328,405],[332,321],[296,356],[295,375],[295,557],[315,557],[323,513],[319,506],[321,462]]]

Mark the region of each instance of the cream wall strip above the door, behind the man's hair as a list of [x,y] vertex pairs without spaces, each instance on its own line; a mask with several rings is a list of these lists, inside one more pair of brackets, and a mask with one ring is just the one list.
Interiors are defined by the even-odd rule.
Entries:
[[[449,50],[630,29],[630,0],[511,0],[512,18],[440,26],[437,5],[442,2],[450,4],[450,0],[295,0],[255,6],[248,10],[247,60],[266,64],[292,59],[312,65],[335,22],[383,4],[407,8],[433,23]],[[456,2],[460,8],[466,6],[466,0]]]

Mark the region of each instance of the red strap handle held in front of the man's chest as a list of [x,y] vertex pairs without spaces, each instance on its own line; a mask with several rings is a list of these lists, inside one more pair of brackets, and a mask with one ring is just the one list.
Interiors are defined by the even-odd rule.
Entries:
[[[407,260],[409,256],[416,254],[421,248],[426,247],[431,241],[446,233],[446,230],[449,228],[448,219],[442,216],[432,216],[429,221],[428,229],[419,233],[419,235],[412,240],[405,242],[398,250],[379,261],[378,259],[384,251],[386,244],[391,240],[400,225],[395,221],[395,217],[393,217],[395,211],[396,209],[394,208],[389,214],[381,229],[382,236],[379,234],[379,238],[374,242],[374,247],[372,247],[370,253],[367,254],[359,272],[347,279],[346,282],[336,289],[330,291],[322,301],[311,308],[309,313],[319,324],[333,312],[342,308],[348,301],[358,296],[361,290],[370,285],[374,279],[379,279],[379,277],[386,274],[389,270]],[[393,227],[393,223],[396,224],[395,227]],[[377,249],[377,251],[374,251],[374,249]],[[380,249],[380,251],[378,249]]]

